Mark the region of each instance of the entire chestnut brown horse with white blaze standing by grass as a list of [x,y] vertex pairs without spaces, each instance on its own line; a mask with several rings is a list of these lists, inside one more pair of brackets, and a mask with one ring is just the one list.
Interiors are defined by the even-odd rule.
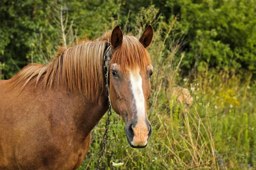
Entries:
[[[109,95],[125,120],[131,147],[151,135],[146,114],[153,73],[146,51],[148,26],[140,40],[119,26],[98,40],[61,49],[49,65],[30,64],[0,81],[0,170],[73,170],[90,146],[90,131],[108,110],[104,53],[111,45]],[[109,42],[110,40],[110,42]]]

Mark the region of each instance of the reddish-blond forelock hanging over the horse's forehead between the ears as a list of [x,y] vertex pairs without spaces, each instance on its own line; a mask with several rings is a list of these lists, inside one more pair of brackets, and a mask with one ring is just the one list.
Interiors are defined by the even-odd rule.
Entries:
[[151,60],[148,51],[136,37],[124,36],[122,45],[114,49],[110,64],[118,64],[119,70],[129,72],[144,71]]

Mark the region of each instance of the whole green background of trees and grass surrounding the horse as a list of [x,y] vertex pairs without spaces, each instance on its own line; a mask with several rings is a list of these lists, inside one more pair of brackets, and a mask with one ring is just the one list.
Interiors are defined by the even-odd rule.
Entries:
[[[95,39],[117,24],[140,37],[152,24],[148,147],[133,149],[111,116],[105,169],[256,169],[255,0],[2,0],[0,79],[58,45]],[[193,104],[173,96],[189,89]],[[106,115],[79,170],[96,167]],[[123,163],[120,167],[113,163]]]

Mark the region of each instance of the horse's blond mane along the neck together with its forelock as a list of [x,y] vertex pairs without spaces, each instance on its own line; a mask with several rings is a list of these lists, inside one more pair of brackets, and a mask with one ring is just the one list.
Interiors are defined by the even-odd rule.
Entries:
[[[92,100],[98,99],[105,86],[103,57],[111,33],[104,34],[94,41],[83,41],[81,44],[60,48],[56,57],[48,65],[29,64],[11,79],[12,88],[21,84],[21,91],[34,80],[43,88],[51,88],[57,82],[72,92],[84,93]],[[111,63],[118,63],[121,68],[145,68],[150,64],[148,52],[132,36],[124,36],[122,45],[113,52]],[[56,81],[55,81],[56,80]]]

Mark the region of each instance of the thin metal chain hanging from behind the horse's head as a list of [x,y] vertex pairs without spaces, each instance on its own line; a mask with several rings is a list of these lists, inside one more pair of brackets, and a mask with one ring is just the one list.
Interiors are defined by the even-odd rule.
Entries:
[[[106,60],[105,60],[105,57]],[[99,170],[100,168],[100,163],[101,161],[103,160],[103,153],[104,153],[104,149],[105,149],[105,146],[106,146],[106,139],[108,137],[108,129],[109,129],[109,123],[110,123],[110,116],[111,116],[111,102],[110,102],[110,96],[109,96],[109,85],[108,85],[108,62],[111,58],[111,45],[108,46],[107,50],[105,51],[105,55],[104,55],[104,60],[105,60],[105,65],[104,67],[106,68],[106,87],[107,87],[107,90],[108,90],[108,119],[107,119],[107,122],[106,122],[106,125],[105,125],[105,133],[103,135],[103,142],[102,142],[102,145],[101,145],[101,152],[99,153],[99,161],[98,161],[98,165],[97,165],[97,170]]]

